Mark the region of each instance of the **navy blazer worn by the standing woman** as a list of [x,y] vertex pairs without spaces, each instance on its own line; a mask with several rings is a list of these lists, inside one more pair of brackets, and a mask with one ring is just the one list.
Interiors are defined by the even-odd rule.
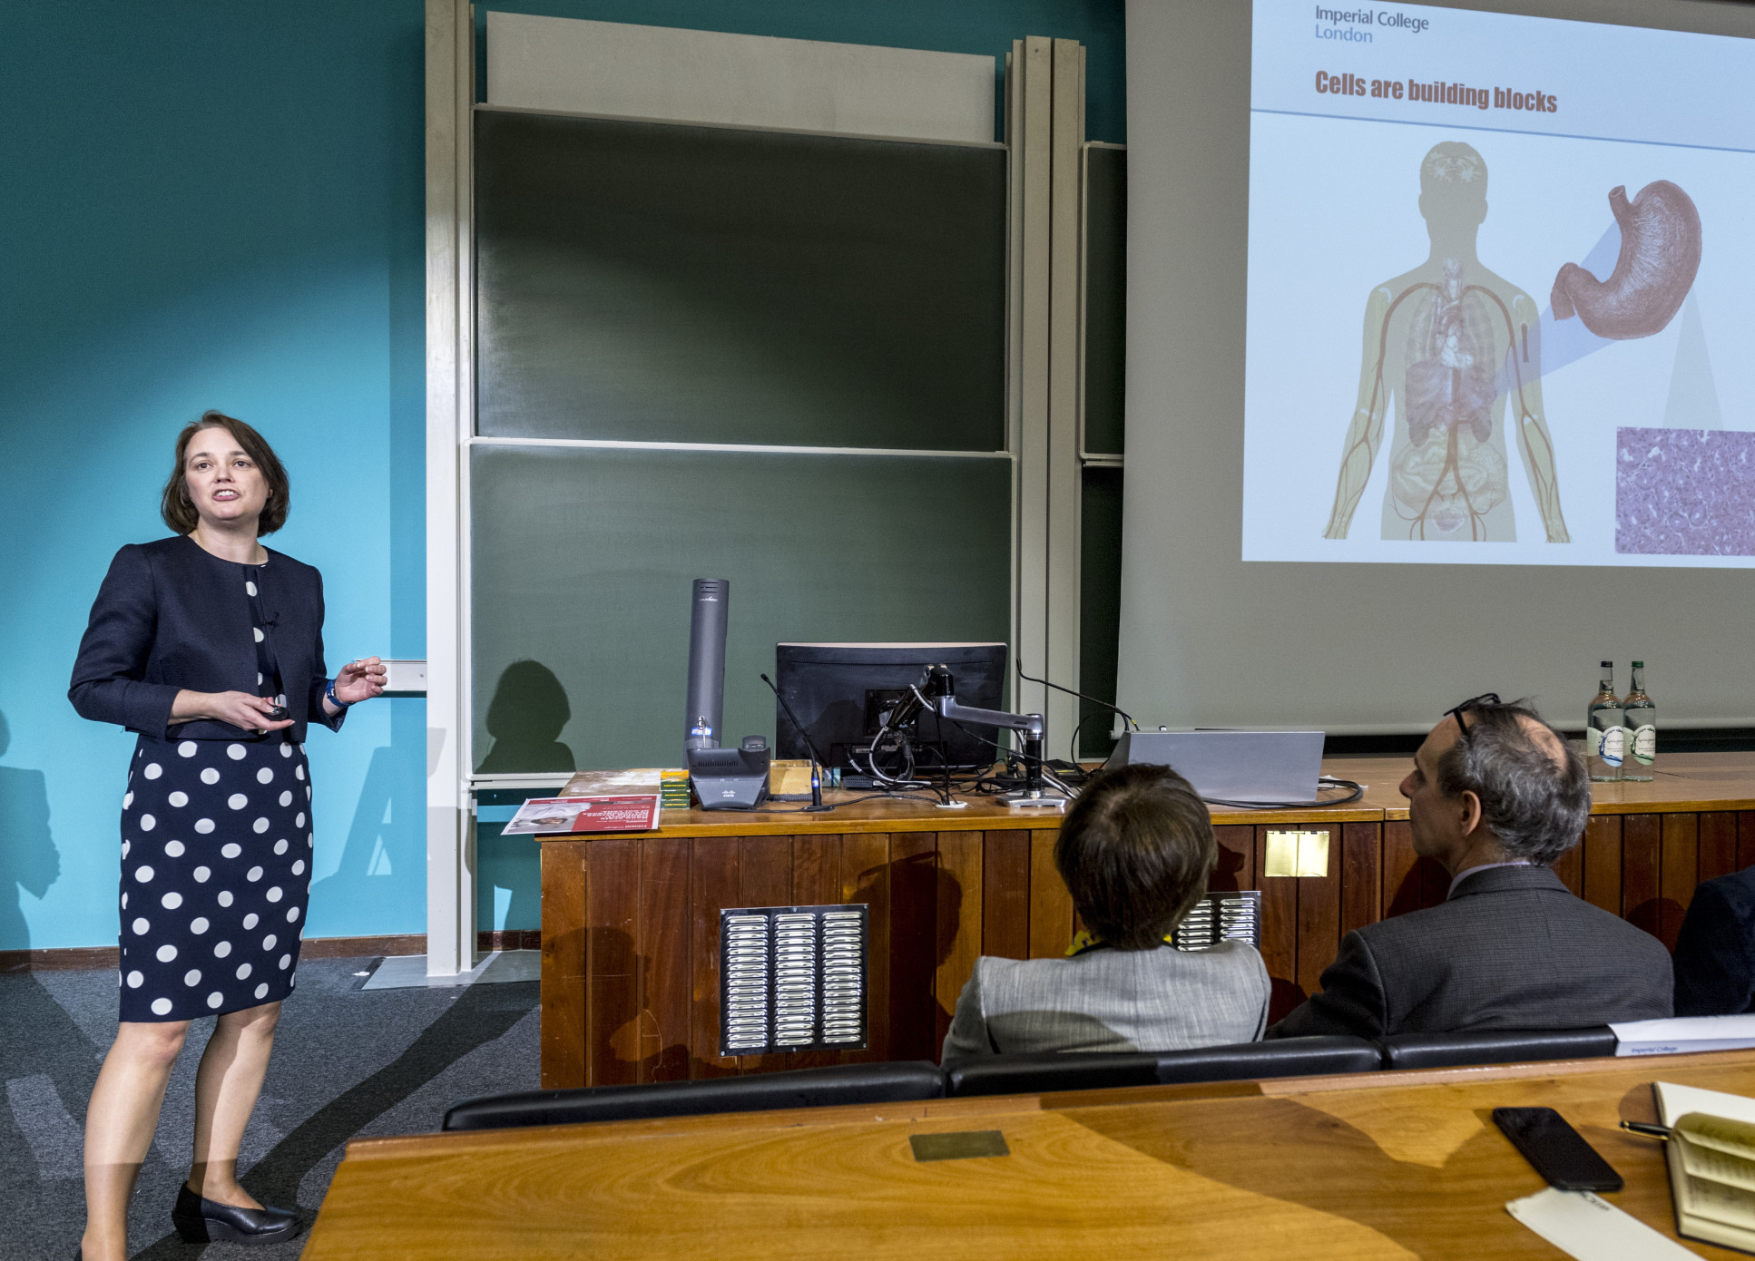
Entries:
[[[269,621],[261,630],[281,666],[293,717],[293,726],[281,731],[295,744],[304,744],[312,719],[339,731],[347,710],[335,717],[323,712],[323,575],[272,549],[256,574]],[[81,717],[160,740],[281,738],[281,731],[258,735],[216,719],[172,724],[170,703],[184,687],[260,695],[256,637],[239,565],[186,535],[128,544],[116,552],[91,603],[67,698]]]

